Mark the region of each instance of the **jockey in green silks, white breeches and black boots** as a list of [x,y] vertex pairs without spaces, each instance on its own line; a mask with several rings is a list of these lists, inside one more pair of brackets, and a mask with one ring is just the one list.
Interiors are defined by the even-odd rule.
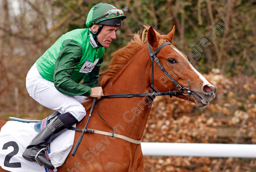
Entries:
[[125,18],[123,11],[112,5],[95,5],[87,16],[89,29],[62,35],[31,67],[26,78],[29,95],[60,115],[27,146],[22,155],[26,160],[55,168],[45,157],[45,147],[84,118],[86,111],[81,102],[85,97],[100,99],[103,95],[97,82],[104,48],[116,39],[116,31]]

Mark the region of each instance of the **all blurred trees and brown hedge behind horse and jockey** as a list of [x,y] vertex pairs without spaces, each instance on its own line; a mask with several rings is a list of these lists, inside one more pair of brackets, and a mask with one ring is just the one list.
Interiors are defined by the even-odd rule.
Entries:
[[[101,71],[143,24],[163,34],[175,25],[173,44],[187,55],[223,18],[229,28],[221,26],[215,43],[202,47],[201,58],[192,61],[218,86],[215,100],[195,110],[187,101],[157,98],[143,141],[256,143],[255,0],[0,0],[0,120],[43,119],[53,112],[27,93],[27,72],[62,34],[86,28],[89,10],[100,2],[127,16],[106,48]],[[145,157],[144,164],[145,171],[256,171],[254,159]]]

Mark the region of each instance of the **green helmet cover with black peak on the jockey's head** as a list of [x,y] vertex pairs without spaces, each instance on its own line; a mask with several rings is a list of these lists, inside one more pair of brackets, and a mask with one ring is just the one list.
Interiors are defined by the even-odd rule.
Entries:
[[117,15],[116,17],[112,17],[112,18],[103,17],[103,18],[97,20],[95,23],[93,23],[93,21],[95,19],[103,16],[104,13],[109,9],[116,9],[116,7],[114,7],[113,5],[110,5],[110,4],[105,4],[103,2],[101,2],[97,5],[95,5],[94,7],[92,7],[91,10],[88,13],[88,16],[87,16],[86,26],[91,27],[92,24],[98,24],[101,21],[108,20],[108,19],[113,19],[113,18],[117,18],[117,17],[120,17],[122,20],[126,18],[125,15]]

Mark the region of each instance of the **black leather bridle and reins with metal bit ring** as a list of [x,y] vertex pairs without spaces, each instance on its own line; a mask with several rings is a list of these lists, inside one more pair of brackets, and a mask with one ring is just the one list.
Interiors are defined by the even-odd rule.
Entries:
[[[131,97],[140,97],[140,96],[148,96],[150,95],[151,97],[158,96],[158,95],[169,95],[170,98],[172,98],[172,95],[178,95],[178,94],[183,94],[183,95],[187,95],[188,96],[188,103],[190,104],[190,94],[192,93],[192,91],[190,91],[189,88],[189,80],[188,80],[188,88],[183,88],[180,84],[178,84],[169,74],[168,72],[165,70],[165,68],[162,66],[162,64],[160,63],[160,61],[158,60],[158,58],[155,56],[156,53],[158,53],[158,51],[160,51],[164,46],[166,45],[171,45],[172,43],[170,42],[166,42],[163,43],[161,46],[159,46],[154,52],[151,49],[150,44],[148,43],[148,52],[149,52],[149,57],[151,59],[151,64],[152,64],[152,74],[151,74],[151,87],[152,87],[152,95],[150,95],[150,93],[138,93],[138,94],[133,94],[133,93],[128,93],[128,94],[113,94],[113,95],[103,95],[101,96],[101,98],[122,98],[122,97],[126,97],[126,98],[131,98]],[[158,64],[158,66],[160,67],[160,69],[164,72],[164,74],[172,81],[172,83],[180,90],[180,91],[171,91],[171,89],[169,88],[169,91],[167,92],[157,92],[155,90],[154,87],[154,61],[153,58],[156,62],[156,64]],[[183,93],[183,90],[187,89],[187,94]]]

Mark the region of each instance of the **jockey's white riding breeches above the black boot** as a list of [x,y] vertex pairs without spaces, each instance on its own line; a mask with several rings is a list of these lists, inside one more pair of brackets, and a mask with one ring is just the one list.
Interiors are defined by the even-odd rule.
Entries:
[[60,112],[69,112],[78,121],[86,115],[84,106],[84,96],[68,96],[59,92],[54,83],[44,79],[37,70],[36,63],[31,67],[26,78],[26,87],[29,95],[38,103],[47,108]]

